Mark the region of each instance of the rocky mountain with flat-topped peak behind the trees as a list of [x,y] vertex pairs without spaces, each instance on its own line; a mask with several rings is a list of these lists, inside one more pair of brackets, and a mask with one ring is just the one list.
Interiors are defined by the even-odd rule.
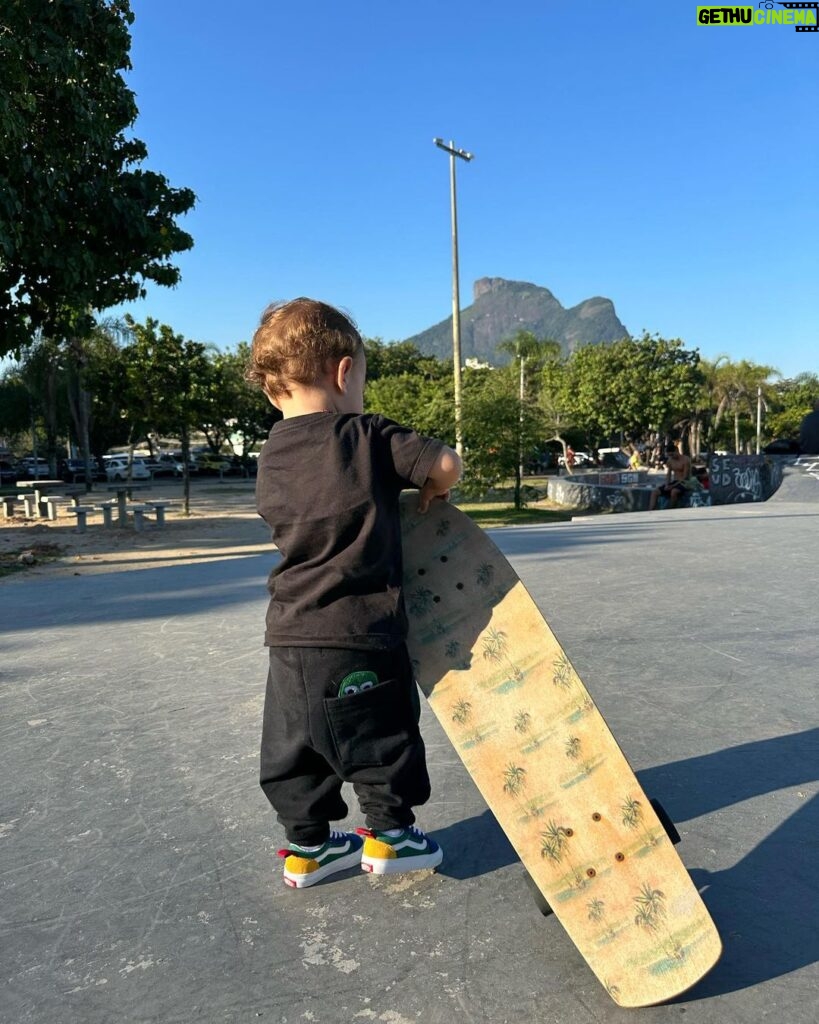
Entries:
[[[580,345],[617,341],[629,332],[614,312],[610,299],[599,296],[564,309],[548,288],[523,281],[481,278],[473,288],[471,306],[461,310],[461,354],[492,366],[508,362],[498,345],[518,331],[531,331],[537,338],[559,341],[564,354]],[[452,357],[452,318],[447,317],[407,338],[425,355]]]

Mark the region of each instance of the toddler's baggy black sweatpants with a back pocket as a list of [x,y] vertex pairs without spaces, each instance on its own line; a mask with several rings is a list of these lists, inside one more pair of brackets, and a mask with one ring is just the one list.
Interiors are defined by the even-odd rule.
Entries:
[[[410,655],[333,647],[270,647],[262,725],[261,787],[289,842],[324,843],[347,814],[351,782],[370,828],[402,828],[429,800],[418,693]],[[351,672],[377,686],[338,696]]]

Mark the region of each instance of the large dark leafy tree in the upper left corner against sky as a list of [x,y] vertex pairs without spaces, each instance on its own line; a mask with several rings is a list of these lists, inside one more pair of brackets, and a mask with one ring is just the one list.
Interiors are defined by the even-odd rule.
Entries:
[[90,313],[175,285],[188,188],[139,165],[129,0],[26,0],[0,13],[0,354],[36,330],[86,337]]

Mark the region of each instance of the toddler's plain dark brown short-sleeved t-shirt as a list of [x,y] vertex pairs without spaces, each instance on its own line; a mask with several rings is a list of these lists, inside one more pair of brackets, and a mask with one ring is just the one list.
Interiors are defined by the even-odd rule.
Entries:
[[390,649],[405,639],[398,496],[424,484],[441,447],[379,415],[273,426],[256,481],[282,554],[265,644]]

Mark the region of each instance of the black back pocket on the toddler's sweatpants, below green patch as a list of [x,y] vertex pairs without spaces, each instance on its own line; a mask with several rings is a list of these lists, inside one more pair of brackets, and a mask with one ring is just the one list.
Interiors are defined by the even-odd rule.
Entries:
[[325,714],[344,768],[390,765],[418,736],[406,683],[397,679],[360,693],[328,697]]

